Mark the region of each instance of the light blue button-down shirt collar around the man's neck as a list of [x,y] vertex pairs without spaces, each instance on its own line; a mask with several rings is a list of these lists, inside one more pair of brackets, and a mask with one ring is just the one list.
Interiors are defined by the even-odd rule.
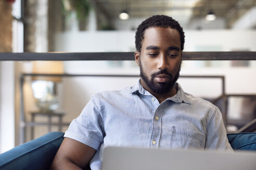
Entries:
[[[188,103],[190,104],[187,96],[186,96],[186,93],[183,91],[181,85],[179,83],[175,83],[175,88],[177,90],[177,93],[168,98],[167,100],[171,100],[173,102],[176,102],[176,103]],[[142,87],[142,84],[140,84],[140,79],[137,81],[137,83],[132,87],[131,89],[131,92],[130,93],[135,93],[135,92],[139,92],[140,94],[143,94],[143,95],[152,95],[150,94],[147,90],[145,90],[143,87]]]

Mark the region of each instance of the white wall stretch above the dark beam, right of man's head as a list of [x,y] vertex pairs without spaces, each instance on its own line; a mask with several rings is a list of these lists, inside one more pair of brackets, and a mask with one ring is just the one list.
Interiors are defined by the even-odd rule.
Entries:
[[[256,51],[255,30],[189,30],[185,36],[184,51],[209,51],[211,47],[219,47],[219,51]],[[200,50],[198,46],[208,48]]]

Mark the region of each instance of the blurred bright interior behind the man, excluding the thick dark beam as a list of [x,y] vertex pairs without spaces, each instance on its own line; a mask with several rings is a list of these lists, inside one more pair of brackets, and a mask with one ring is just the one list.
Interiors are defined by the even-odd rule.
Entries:
[[[0,52],[132,52],[136,27],[152,15],[183,26],[185,52],[256,51],[255,0],[0,0]],[[134,61],[0,61],[0,153],[50,131],[65,132],[94,93],[138,81],[31,74],[139,75],[139,69]],[[256,61],[183,61],[181,76],[206,77],[178,82],[220,108],[225,88],[232,133],[256,117],[255,75]]]

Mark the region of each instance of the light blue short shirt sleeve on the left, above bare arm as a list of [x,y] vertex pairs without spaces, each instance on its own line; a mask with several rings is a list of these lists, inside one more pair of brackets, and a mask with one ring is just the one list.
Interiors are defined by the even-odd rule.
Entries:
[[97,150],[103,143],[104,137],[104,120],[101,108],[99,95],[93,95],[80,116],[70,123],[64,137],[80,141]]

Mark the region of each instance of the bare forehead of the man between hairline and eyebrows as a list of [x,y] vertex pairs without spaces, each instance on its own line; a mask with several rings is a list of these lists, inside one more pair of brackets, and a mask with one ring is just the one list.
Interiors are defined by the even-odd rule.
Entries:
[[142,48],[146,46],[177,46],[181,48],[180,33],[170,27],[150,27],[145,30]]

